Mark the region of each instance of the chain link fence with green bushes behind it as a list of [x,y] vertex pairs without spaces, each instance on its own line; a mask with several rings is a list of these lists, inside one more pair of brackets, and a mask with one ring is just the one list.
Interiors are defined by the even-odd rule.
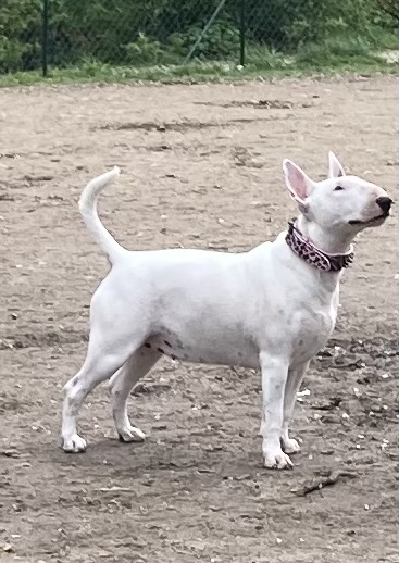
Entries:
[[397,24],[397,0],[1,0],[0,74],[249,64],[328,41],[383,49]]

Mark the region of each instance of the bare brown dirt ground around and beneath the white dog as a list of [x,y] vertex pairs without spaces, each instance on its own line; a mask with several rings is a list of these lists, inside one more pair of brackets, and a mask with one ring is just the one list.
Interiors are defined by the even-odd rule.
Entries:
[[[258,373],[166,360],[130,400],[144,445],[116,440],[103,386],[87,452],[59,448],[108,271],[78,214],[86,182],[122,167],[100,207],[130,249],[246,250],[295,215],[284,157],[322,178],[333,149],[395,193],[396,103],[390,77],[0,90],[0,561],[398,561],[395,218],[359,237],[292,472],[262,467]],[[354,477],[296,492],[332,470]]]

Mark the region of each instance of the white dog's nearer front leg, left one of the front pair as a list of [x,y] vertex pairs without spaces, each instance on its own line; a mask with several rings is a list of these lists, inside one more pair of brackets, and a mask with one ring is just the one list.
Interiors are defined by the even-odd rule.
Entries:
[[283,452],[280,446],[288,361],[261,352],[260,365],[262,370],[262,414],[264,418],[262,446],[264,465],[284,470],[292,466],[291,460]]

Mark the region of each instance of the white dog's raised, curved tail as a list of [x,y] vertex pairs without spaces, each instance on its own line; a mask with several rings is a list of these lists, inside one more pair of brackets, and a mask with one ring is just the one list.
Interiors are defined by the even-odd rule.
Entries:
[[97,213],[97,200],[100,192],[117,178],[120,172],[120,168],[115,166],[110,172],[93,178],[87,184],[79,199],[79,211],[86,227],[102,250],[109,255],[112,263],[116,262],[117,258],[125,253],[126,250],[116,242],[101,223]]

